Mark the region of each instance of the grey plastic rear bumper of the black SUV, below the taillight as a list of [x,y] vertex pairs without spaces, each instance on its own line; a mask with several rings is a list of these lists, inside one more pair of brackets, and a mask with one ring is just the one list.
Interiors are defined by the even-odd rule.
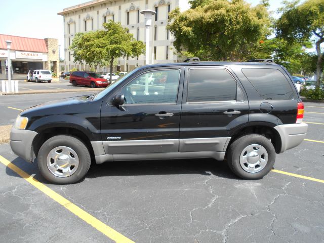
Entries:
[[281,149],[279,153],[298,146],[306,137],[308,125],[305,123],[284,124],[275,126],[280,135]]

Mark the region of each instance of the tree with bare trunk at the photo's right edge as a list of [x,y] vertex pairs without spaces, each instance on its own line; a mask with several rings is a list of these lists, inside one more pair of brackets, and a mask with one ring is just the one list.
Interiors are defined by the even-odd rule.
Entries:
[[276,35],[288,42],[304,42],[314,39],[316,61],[316,87],[320,85],[322,54],[320,44],[324,42],[324,0],[308,0],[298,5],[299,0],[286,2],[280,9],[281,17],[276,23]]

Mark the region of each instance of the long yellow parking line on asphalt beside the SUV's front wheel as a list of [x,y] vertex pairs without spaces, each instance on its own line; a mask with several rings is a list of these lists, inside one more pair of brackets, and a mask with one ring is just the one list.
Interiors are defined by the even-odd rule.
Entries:
[[114,240],[117,243],[124,243],[124,242],[133,242],[131,239],[127,238],[126,236],[120,234],[116,230],[110,228],[91,214],[87,213],[83,209],[80,209],[75,204],[71,203],[71,201],[67,200],[60,194],[56,193],[43,183],[37,181],[32,176],[21,170],[19,167],[12,164],[9,160],[4,158],[0,155],[0,162],[4,164],[6,167],[10,168],[14,172],[16,172],[19,176],[21,176],[23,179],[25,179],[27,182],[29,182],[31,185],[36,187],[38,190],[42,191],[49,197],[51,197],[53,200],[57,201],[60,205],[62,205],[64,208],[69,210],[71,213],[75,214],[80,219],[84,220],[86,223],[90,224],[94,228],[96,228],[98,231],[103,233],[104,235],[108,236],[110,239]]

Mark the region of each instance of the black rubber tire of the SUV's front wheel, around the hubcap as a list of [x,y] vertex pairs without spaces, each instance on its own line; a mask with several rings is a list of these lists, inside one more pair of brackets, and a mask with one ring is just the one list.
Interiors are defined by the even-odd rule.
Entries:
[[[79,158],[78,167],[75,172],[67,177],[54,175],[47,166],[47,157],[51,150],[65,146],[71,148]],[[38,151],[38,169],[42,176],[54,184],[71,184],[84,178],[90,168],[91,157],[87,146],[78,138],[68,135],[58,135],[48,139]]]

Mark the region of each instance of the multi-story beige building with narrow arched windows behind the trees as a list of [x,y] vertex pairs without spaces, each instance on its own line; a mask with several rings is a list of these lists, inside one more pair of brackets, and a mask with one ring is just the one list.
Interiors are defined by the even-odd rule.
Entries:
[[[127,27],[134,38],[145,42],[144,15],[140,11],[145,9],[154,10],[157,14],[152,18],[150,29],[150,63],[177,62],[174,54],[174,38],[166,30],[168,14],[179,7],[181,11],[189,8],[187,0],[94,0],[79,4],[58,13],[64,18],[64,57],[65,70],[73,67],[83,70],[89,69],[86,63],[78,64],[73,60],[69,46],[77,32],[86,32],[103,29],[102,24],[108,20],[120,22]],[[120,58],[113,71],[129,71],[136,66],[145,64],[145,55],[138,58]],[[100,67],[98,72],[109,71],[108,67]]]

